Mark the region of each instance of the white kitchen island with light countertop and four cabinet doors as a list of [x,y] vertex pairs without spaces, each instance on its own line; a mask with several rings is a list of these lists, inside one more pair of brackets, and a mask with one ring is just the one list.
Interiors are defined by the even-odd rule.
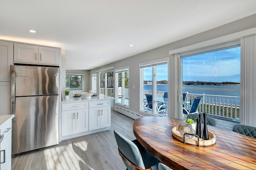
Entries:
[[114,98],[92,96],[73,97],[62,102],[61,140],[80,137],[110,129],[110,102]]

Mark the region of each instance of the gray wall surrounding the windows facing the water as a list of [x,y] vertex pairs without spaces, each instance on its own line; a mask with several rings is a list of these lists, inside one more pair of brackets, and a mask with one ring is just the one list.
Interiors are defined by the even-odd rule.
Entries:
[[[114,66],[115,68],[122,68],[126,66],[130,66],[129,74],[130,74],[130,111],[134,113],[138,113],[143,115],[143,113],[139,113],[139,86],[140,86],[140,76],[139,76],[139,64],[145,63],[148,61],[154,61],[157,59],[169,58],[169,85],[170,85],[170,103],[169,103],[169,111],[170,117],[177,117],[177,90],[178,90],[178,70],[177,70],[177,59],[174,55],[169,55],[169,51],[179,49],[182,47],[186,47],[189,45],[194,45],[196,43],[201,43],[204,41],[216,39],[218,37],[223,37],[225,35],[230,35],[233,33],[237,33],[243,30],[251,29],[256,27],[256,15],[252,15],[220,27],[216,27],[214,29],[210,29],[208,31],[204,31],[202,33],[193,35],[191,37],[187,37],[185,39],[181,39],[179,41],[158,47],[156,49],[152,49],[150,51],[146,51],[144,53],[140,53],[138,55],[134,55],[132,57],[122,59],[120,61],[101,66],[99,68],[95,68],[90,70],[90,76],[95,73],[96,70],[101,70],[104,68],[108,68],[110,66]],[[189,25],[188,25],[189,26]],[[231,40],[231,39],[230,39]],[[152,41],[154,41],[152,39]],[[182,52],[182,51],[180,51]],[[91,81],[91,80],[90,80]],[[90,83],[91,84],[91,83]],[[91,86],[91,85],[90,85]],[[135,89],[132,88],[135,86]]]

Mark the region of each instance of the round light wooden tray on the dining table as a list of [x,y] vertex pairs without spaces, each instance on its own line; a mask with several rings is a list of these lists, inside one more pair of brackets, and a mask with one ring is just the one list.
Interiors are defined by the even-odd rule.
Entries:
[[180,132],[178,131],[178,127],[172,128],[172,136],[180,142],[188,143],[190,145],[196,145],[199,147],[209,147],[216,144],[216,136],[210,131],[208,131],[209,140],[204,140],[202,138],[193,136],[190,139],[185,138],[185,141],[184,141],[184,137],[180,135]]

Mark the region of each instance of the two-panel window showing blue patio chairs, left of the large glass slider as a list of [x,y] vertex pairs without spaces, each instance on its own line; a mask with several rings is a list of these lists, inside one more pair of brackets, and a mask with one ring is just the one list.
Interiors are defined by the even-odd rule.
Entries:
[[140,110],[168,116],[168,60],[140,64]]

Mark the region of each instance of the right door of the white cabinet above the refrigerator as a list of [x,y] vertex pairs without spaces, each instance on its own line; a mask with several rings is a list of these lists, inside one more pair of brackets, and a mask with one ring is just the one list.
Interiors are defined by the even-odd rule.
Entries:
[[60,49],[51,47],[38,47],[40,64],[60,64]]

